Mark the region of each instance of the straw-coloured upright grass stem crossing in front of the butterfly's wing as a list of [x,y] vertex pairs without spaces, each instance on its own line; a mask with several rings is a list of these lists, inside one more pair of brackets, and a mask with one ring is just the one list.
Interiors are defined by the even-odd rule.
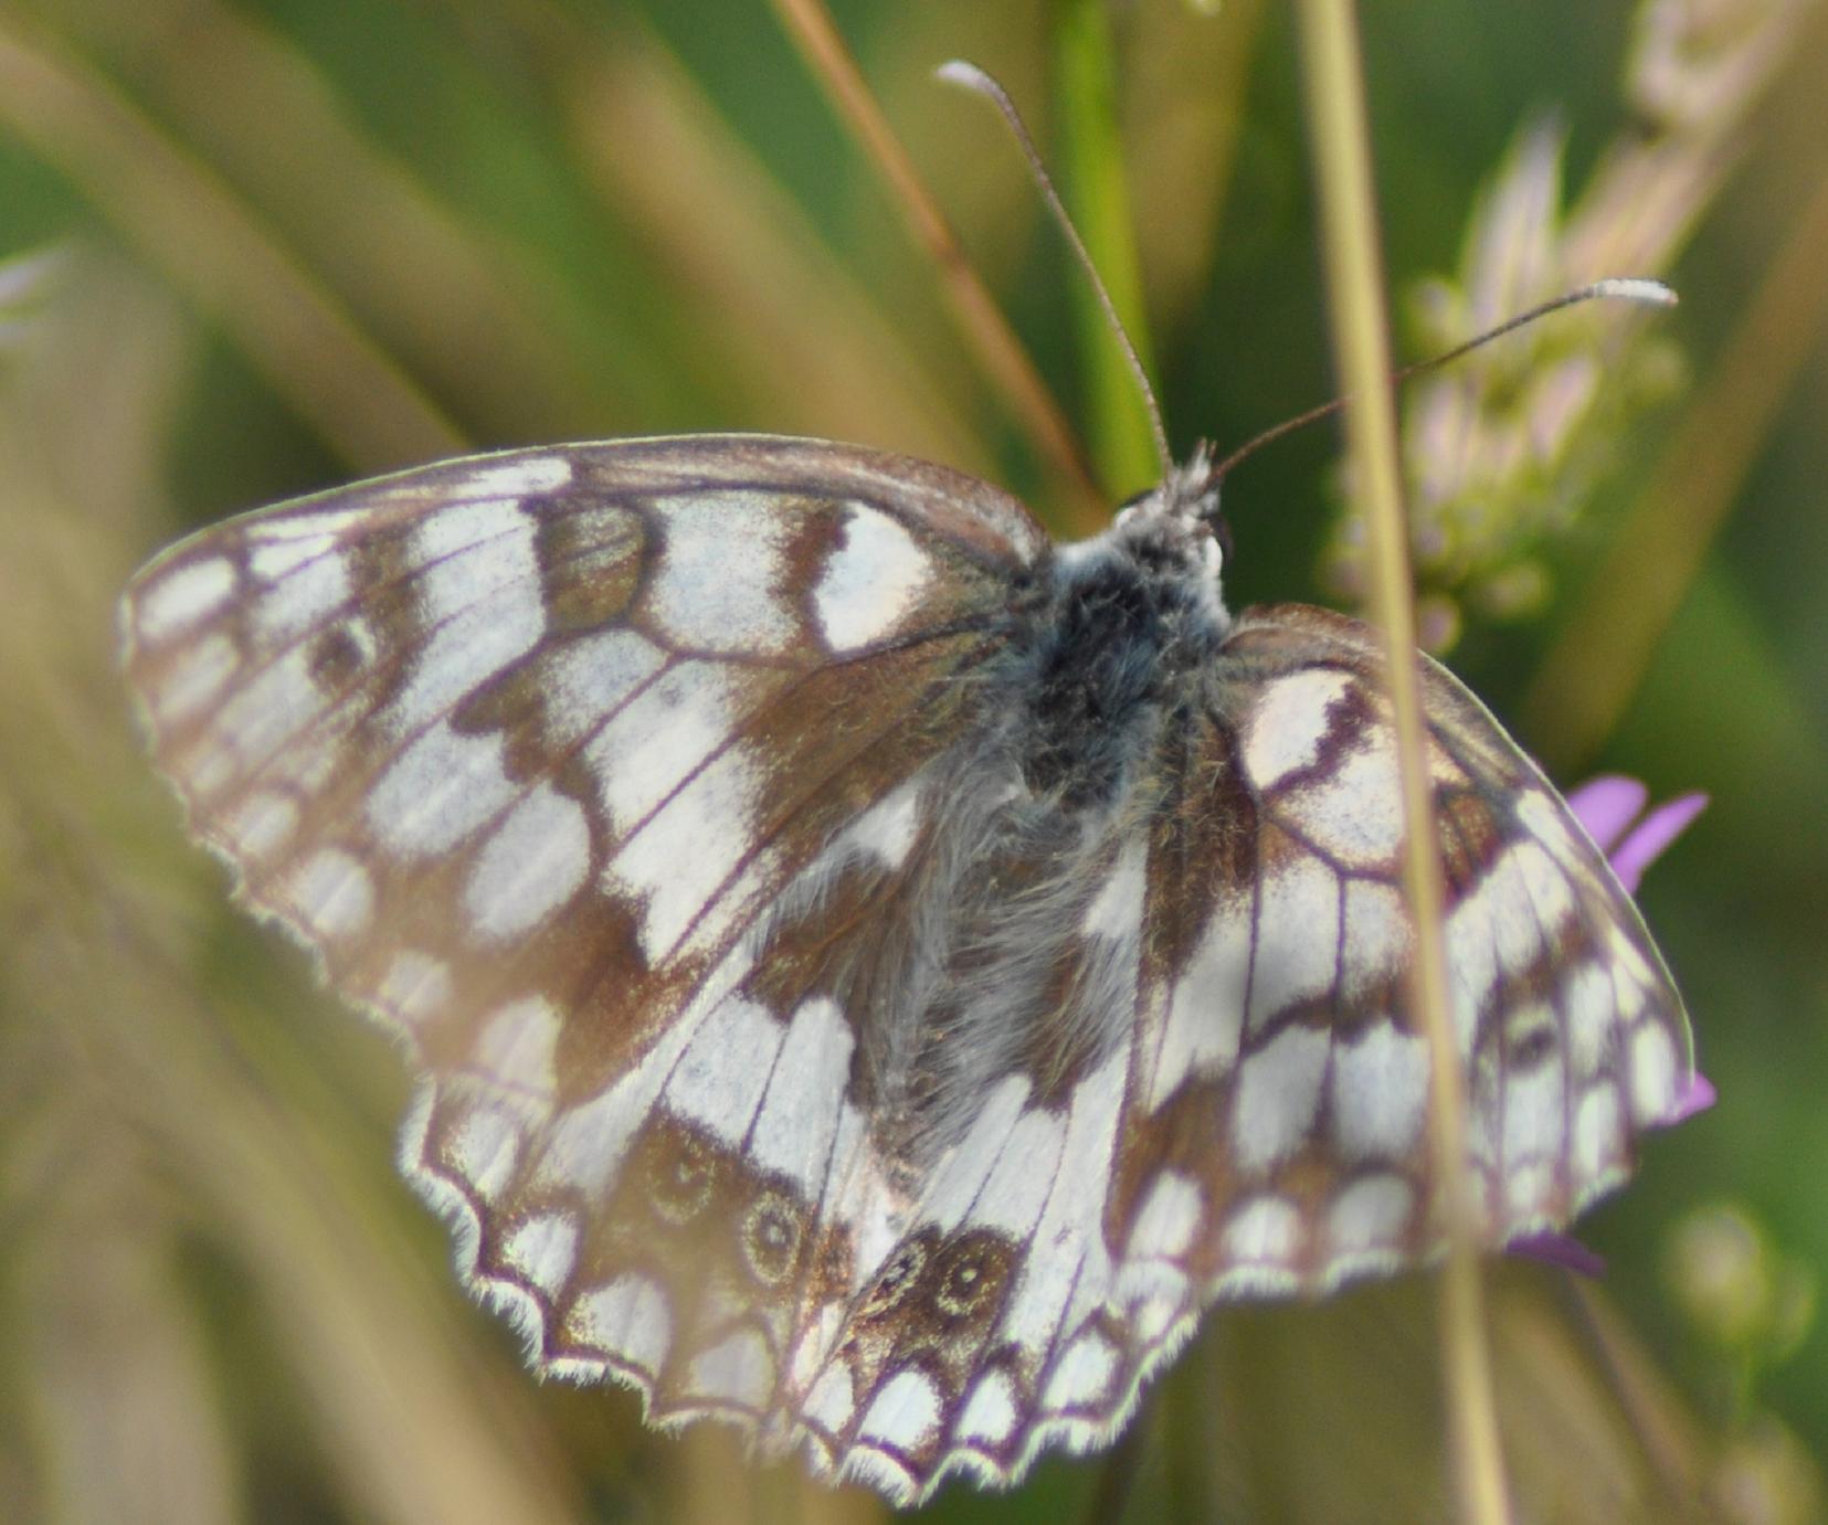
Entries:
[[1466,1179],[1466,1097],[1448,1008],[1440,933],[1442,885],[1435,854],[1433,801],[1422,752],[1415,656],[1415,591],[1397,472],[1397,413],[1389,388],[1389,338],[1371,190],[1369,128],[1358,33],[1349,0],[1302,0],[1302,51],[1309,128],[1320,177],[1320,221],[1331,291],[1340,384],[1353,397],[1347,443],[1366,494],[1371,602],[1384,629],[1391,709],[1406,823],[1404,894],[1415,923],[1413,1002],[1429,1046],[1433,1093],[1429,1152],[1448,1231],[1442,1271],[1442,1377],[1453,1483],[1462,1518],[1503,1525],[1510,1518],[1492,1353],[1479,1282],[1479,1243]]

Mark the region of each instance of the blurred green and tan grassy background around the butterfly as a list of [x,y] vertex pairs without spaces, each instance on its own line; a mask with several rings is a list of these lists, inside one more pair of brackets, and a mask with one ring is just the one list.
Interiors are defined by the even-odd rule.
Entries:
[[[835,20],[1113,501],[1148,485],[1133,402],[1005,133],[930,82],[943,59],[1027,110],[1177,450],[1333,393],[1281,7]],[[1409,353],[1532,282],[1667,274],[1684,298],[1470,366],[1453,386],[1497,428],[1453,435],[1475,488],[1419,532],[1431,629],[1559,783],[1713,797],[1642,900],[1720,1104],[1583,1223],[1601,1284],[1493,1267],[1519,1518],[1821,1518],[1828,26],[1771,0],[1428,0],[1364,27]],[[1567,199],[1642,150],[1636,177],[1563,223],[1514,157],[1493,216],[1545,121]],[[1521,285],[1493,274],[1515,251]],[[1581,269],[1620,251],[1658,269]],[[112,655],[121,583],[181,530],[466,446],[819,433],[1095,523],[781,16],[5,4],[0,260],[0,1518],[876,1518],[749,1472],[715,1428],[662,1439],[620,1390],[521,1371],[393,1178],[397,1059],[183,845]],[[1570,364],[1578,417],[1532,391]],[[1479,477],[1493,437],[1543,448]],[[1422,421],[1408,448],[1419,477],[1442,461]],[[1340,602],[1345,496],[1331,424],[1241,468],[1234,602]],[[1117,1463],[932,1514],[1440,1518],[1431,1296],[1221,1309]]]

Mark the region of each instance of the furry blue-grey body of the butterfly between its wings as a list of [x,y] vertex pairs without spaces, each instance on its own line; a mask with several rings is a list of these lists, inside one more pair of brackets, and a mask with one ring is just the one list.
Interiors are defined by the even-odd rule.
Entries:
[[[1161,748],[1214,702],[1230,631],[1212,503],[1181,488],[1036,565],[978,673],[976,744],[927,772],[936,812],[907,892],[877,905],[894,934],[832,971],[846,1009],[874,1013],[856,1081],[877,1146],[910,1178],[956,1143],[985,1086],[1016,1075],[1033,1101],[1064,1103],[1124,1039],[1111,1015],[1128,1009],[1137,944],[1088,936],[1088,916],[1113,881],[1113,914],[1141,911],[1133,856],[1164,786]],[[903,911],[936,905],[943,918]]]

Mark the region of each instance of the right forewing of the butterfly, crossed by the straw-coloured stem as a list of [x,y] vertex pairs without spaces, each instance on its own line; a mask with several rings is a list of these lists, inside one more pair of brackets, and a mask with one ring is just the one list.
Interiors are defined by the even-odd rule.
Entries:
[[[1152,859],[1164,923],[1186,903],[1208,920],[1139,1002],[1115,1220],[1175,1192],[1192,1203],[1181,1269],[1206,1296],[1325,1291],[1442,1240],[1382,656],[1356,622],[1272,607],[1238,620],[1217,671],[1205,775],[1228,803],[1188,803],[1188,830],[1230,826],[1192,890],[1185,858]],[[1503,1245],[1616,1185],[1693,1057],[1572,812],[1433,664],[1424,695],[1468,1161],[1483,1238]]]

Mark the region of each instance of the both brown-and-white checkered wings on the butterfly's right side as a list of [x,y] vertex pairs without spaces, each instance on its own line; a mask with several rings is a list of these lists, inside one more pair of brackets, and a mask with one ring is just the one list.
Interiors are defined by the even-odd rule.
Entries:
[[[976,944],[1002,975],[983,997],[960,973],[929,1015],[982,1088],[947,1104],[929,1075],[901,1238],[801,1382],[817,1454],[892,1498],[1106,1443],[1219,1298],[1442,1249],[1376,636],[1247,611],[1183,697],[1104,834],[1040,872],[1033,839],[993,858],[1000,892],[1046,903],[1011,947]],[[1689,1031],[1561,797],[1433,664],[1426,699],[1468,1163],[1499,1247],[1623,1181],[1693,1073]],[[969,876],[952,903],[994,927]]]

